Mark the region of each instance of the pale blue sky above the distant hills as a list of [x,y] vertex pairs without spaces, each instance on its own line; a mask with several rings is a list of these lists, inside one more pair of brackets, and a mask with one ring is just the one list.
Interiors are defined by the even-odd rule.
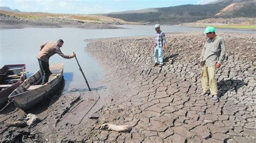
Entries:
[[22,12],[110,13],[184,4],[206,4],[216,0],[0,0],[0,6]]

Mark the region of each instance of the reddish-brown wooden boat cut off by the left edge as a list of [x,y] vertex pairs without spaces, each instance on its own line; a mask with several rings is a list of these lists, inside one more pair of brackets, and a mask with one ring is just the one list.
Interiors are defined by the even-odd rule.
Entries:
[[5,65],[0,69],[0,105],[7,103],[8,96],[26,79],[25,64]]

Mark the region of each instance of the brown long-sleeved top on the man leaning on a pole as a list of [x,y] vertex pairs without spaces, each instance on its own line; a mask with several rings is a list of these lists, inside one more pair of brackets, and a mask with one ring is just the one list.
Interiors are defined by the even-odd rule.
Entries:
[[57,42],[46,42],[45,44],[43,44],[40,47],[40,52],[37,55],[37,58],[42,61],[49,62],[49,58],[56,53],[65,59],[72,58],[72,56],[64,55],[62,51],[60,51],[60,48],[58,47]]

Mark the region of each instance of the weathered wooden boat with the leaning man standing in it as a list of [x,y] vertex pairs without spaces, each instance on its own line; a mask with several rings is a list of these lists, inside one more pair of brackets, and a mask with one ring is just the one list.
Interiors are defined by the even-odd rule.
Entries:
[[52,74],[47,83],[41,85],[42,77],[40,70],[38,70],[19,85],[19,87],[9,95],[9,99],[13,100],[18,108],[27,110],[53,94],[62,81],[63,63],[50,66],[50,70]]

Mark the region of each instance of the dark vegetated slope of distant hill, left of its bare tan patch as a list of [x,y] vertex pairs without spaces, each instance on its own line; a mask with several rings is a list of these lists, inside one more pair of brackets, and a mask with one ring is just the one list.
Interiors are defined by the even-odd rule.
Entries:
[[119,18],[128,22],[151,23],[191,23],[201,19],[215,18],[215,14],[224,9],[229,3],[207,5],[179,5],[167,8],[157,8],[158,12],[106,14],[107,17]]

